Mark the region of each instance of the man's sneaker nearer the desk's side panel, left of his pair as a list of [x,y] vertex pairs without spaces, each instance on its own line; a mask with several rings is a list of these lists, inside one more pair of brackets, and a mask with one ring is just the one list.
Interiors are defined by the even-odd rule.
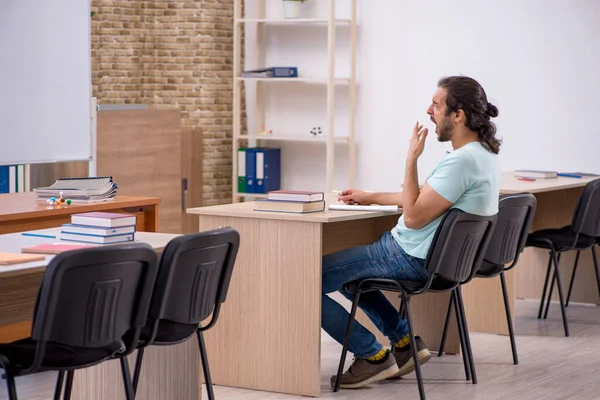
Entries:
[[[364,358],[355,358],[348,371],[341,377],[340,387],[344,389],[357,389],[370,383],[390,378],[398,373],[398,364],[391,353],[378,361],[367,361]],[[335,386],[336,376],[331,377],[331,387]]]

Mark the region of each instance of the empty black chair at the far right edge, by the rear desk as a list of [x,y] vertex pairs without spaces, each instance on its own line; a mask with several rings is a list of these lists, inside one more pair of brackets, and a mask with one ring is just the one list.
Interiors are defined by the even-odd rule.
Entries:
[[[560,311],[562,313],[565,336],[569,336],[569,325],[567,323],[567,313],[565,309],[565,300],[563,295],[562,281],[559,273],[560,255],[565,251],[571,250],[587,250],[591,249],[594,259],[594,267],[596,269],[596,279],[598,281],[598,289],[600,291],[600,273],[598,271],[598,259],[594,244],[596,238],[600,236],[600,179],[593,180],[585,185],[575,212],[571,225],[567,225],[558,229],[543,229],[533,232],[527,238],[526,246],[548,249],[550,257],[548,260],[548,270],[546,271],[546,279],[544,281],[544,289],[542,291],[542,299],[538,318],[542,317],[544,301],[546,300],[546,310],[544,319],[548,316],[548,308],[552,292],[554,291],[554,283],[558,289],[558,297],[560,302]],[[576,257],[577,260],[577,257]],[[548,289],[548,280],[550,279],[550,271],[554,264],[554,276],[546,298]],[[574,268],[575,270],[575,268]],[[571,285],[572,286],[572,285]]]

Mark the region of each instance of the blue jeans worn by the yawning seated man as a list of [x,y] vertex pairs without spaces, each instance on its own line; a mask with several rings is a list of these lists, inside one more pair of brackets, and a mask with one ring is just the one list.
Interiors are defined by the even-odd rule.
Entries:
[[[388,278],[426,281],[429,273],[425,260],[406,254],[391,232],[367,246],[359,246],[323,256],[323,299],[321,326],[340,344],[344,343],[350,314],[344,307],[327,296],[340,291],[352,300],[353,295],[344,285],[357,279]],[[394,344],[408,334],[406,321],[380,291],[360,295],[358,306],[375,326]],[[357,358],[367,358],[379,353],[383,346],[375,336],[354,321],[348,350]]]

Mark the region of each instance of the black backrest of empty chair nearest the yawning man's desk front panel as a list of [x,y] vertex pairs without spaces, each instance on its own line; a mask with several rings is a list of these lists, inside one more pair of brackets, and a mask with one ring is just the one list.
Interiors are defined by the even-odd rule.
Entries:
[[229,227],[171,240],[160,260],[149,318],[199,324],[218,310],[227,297],[239,243],[239,233]]

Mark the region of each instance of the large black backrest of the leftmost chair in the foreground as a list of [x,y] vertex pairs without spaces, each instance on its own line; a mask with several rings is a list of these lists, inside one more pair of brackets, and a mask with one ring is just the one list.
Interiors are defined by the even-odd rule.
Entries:
[[147,244],[57,254],[46,268],[34,311],[31,337],[38,352],[47,342],[100,348],[122,341],[125,350],[135,350],[157,272],[158,257]]

